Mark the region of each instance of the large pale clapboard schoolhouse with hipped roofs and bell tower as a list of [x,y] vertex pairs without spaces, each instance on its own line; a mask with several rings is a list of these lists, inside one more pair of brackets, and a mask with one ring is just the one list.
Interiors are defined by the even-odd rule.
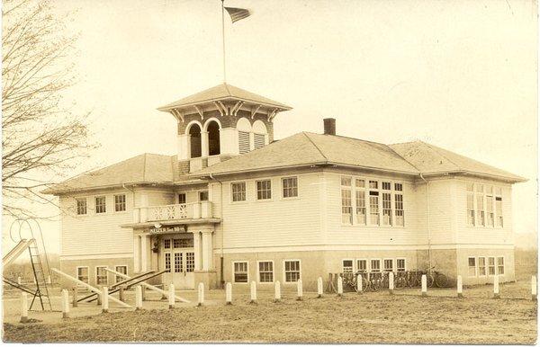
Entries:
[[329,273],[429,266],[464,284],[514,280],[522,177],[421,141],[342,137],[333,119],[275,140],[291,107],[232,85],[158,110],[177,122],[177,156],[142,154],[47,191],[63,212],[61,271],[105,285],[116,280],[105,267],[169,269],[154,282],[184,289],[313,288]]

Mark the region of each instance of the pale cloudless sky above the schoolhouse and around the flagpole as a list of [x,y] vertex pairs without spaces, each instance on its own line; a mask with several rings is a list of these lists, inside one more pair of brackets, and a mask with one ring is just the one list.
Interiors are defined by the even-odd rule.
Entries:
[[[54,4],[80,35],[66,99],[92,111],[101,144],[66,176],[145,152],[174,155],[175,119],[156,109],[222,82],[220,0]],[[252,11],[225,24],[227,82],[293,107],[275,118],[275,138],[322,132],[334,117],[338,135],[419,139],[517,173],[528,182],[514,187],[513,227],[536,233],[534,2],[225,4]],[[58,252],[58,221],[42,227]]]

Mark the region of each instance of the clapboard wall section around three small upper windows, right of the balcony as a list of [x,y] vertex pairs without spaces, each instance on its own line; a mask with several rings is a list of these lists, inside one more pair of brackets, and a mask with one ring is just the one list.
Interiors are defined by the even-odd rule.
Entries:
[[[284,175],[239,180],[247,183],[247,200],[239,202],[232,202],[230,181],[223,182],[224,248],[320,245],[320,173],[296,176],[299,196],[291,199],[282,199]],[[272,180],[272,200],[257,200],[258,179]]]

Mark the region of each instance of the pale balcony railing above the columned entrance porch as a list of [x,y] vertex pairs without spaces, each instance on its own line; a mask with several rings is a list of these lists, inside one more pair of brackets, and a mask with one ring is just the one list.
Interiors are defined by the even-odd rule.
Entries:
[[135,223],[198,218],[211,218],[210,201],[133,209],[133,222]]

